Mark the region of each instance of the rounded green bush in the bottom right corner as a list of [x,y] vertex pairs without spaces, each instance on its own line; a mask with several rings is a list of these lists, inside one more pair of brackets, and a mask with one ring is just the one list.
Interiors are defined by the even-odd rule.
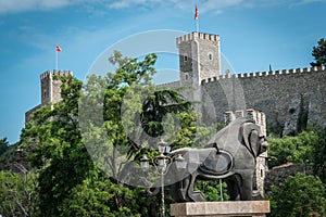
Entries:
[[297,174],[272,188],[271,216],[325,216],[325,186],[319,178]]

